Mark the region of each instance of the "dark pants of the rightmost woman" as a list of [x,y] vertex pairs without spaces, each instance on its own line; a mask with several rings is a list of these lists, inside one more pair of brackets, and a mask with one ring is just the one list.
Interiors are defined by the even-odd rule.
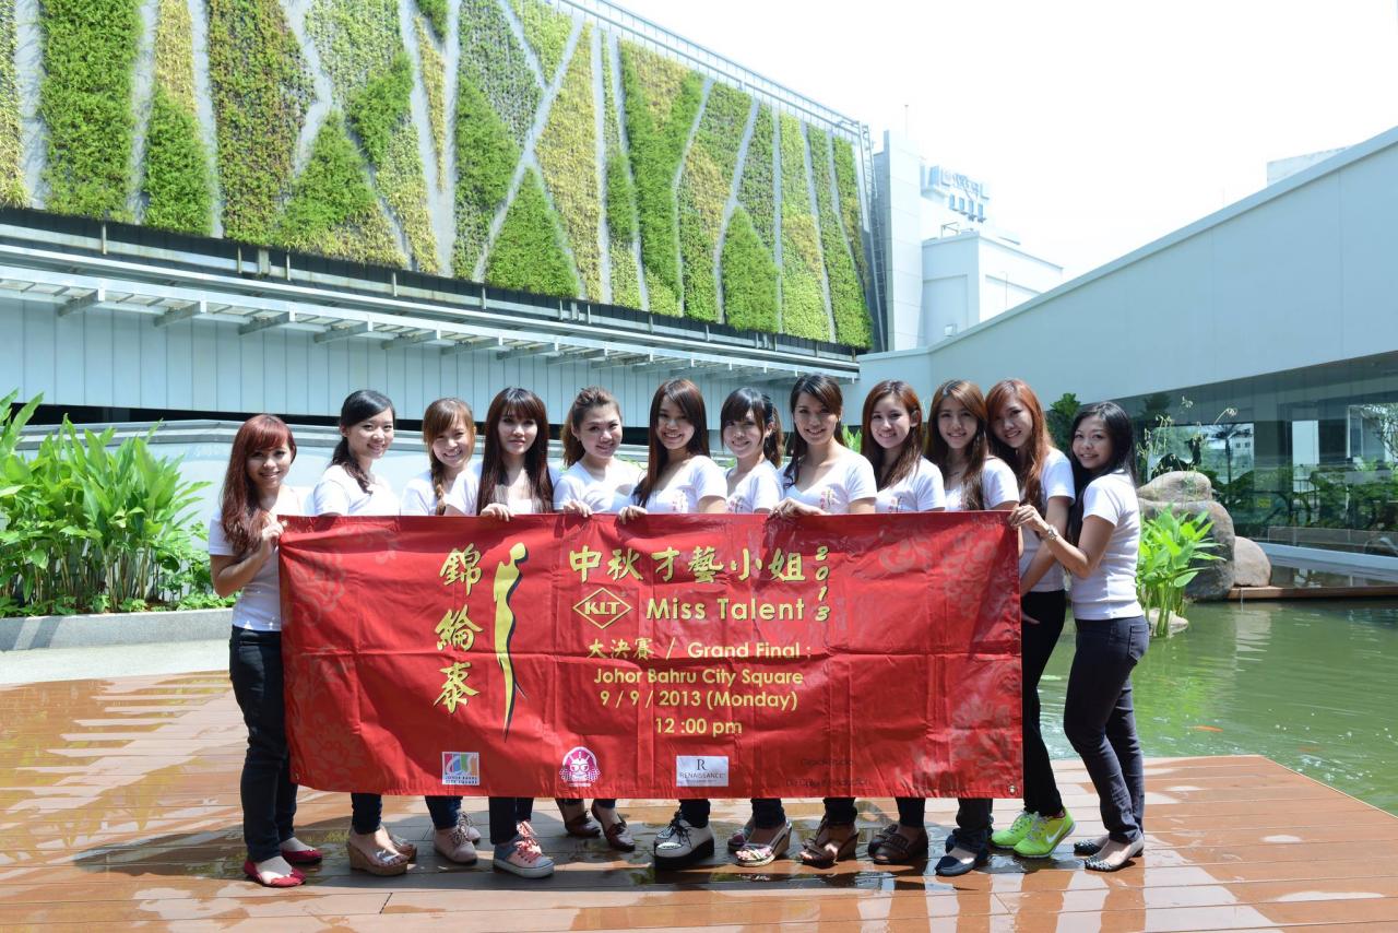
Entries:
[[1131,670],[1151,645],[1151,629],[1144,615],[1079,618],[1076,627],[1062,730],[1097,789],[1107,834],[1135,842],[1145,818],[1145,758],[1131,705]]

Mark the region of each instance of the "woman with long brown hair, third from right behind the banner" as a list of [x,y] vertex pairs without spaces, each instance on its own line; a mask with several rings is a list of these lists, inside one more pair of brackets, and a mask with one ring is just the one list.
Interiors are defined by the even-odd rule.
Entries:
[[[927,435],[927,459],[942,471],[946,511],[1011,511],[1019,505],[1015,471],[991,456],[986,397],[965,379],[949,379],[932,393],[928,408],[932,422]],[[937,874],[953,877],[990,862],[991,800],[960,797],[956,802],[956,829],[946,838],[946,855]]]

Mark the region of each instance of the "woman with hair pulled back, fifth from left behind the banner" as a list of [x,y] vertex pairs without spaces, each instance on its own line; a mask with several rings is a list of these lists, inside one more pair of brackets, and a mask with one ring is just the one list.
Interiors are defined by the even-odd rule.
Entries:
[[[568,469],[554,487],[556,512],[615,515],[630,504],[630,494],[644,473],[617,457],[621,436],[621,406],[617,399],[598,386],[587,386],[579,392],[563,420],[561,441]],[[597,835],[597,825],[587,820],[582,800],[558,800],[558,806],[569,835]],[[607,845],[619,852],[636,849],[626,821],[617,813],[615,799],[593,800],[591,814],[601,824]]]

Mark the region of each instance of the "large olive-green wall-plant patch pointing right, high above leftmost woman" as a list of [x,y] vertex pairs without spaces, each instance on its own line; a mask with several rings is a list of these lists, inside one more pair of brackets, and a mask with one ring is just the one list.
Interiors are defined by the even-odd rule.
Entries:
[[277,0],[208,0],[224,232],[273,242],[310,104],[301,48]]

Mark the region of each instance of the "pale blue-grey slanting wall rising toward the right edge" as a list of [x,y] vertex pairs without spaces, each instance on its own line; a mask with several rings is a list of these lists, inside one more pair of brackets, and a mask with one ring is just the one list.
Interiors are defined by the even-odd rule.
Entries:
[[860,386],[1028,380],[1120,399],[1398,350],[1398,129],[932,347]]

